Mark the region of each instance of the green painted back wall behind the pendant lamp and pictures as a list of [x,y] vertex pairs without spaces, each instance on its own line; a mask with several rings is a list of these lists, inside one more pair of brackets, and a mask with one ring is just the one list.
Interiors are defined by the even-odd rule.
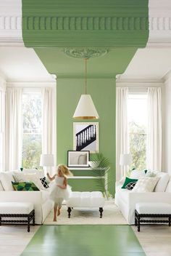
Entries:
[[[73,113],[80,99],[82,79],[59,79],[57,81],[57,159],[67,164],[67,151],[73,150]],[[115,81],[114,79],[88,79],[88,93],[99,113],[99,150],[111,162],[113,182],[109,184],[109,191],[114,193],[115,173]],[[81,170],[79,175],[88,171]],[[77,173],[78,174],[78,173]],[[80,180],[75,180],[73,188],[78,187]],[[88,191],[96,190],[92,186],[93,180],[82,180]],[[86,183],[86,185],[85,185]]]

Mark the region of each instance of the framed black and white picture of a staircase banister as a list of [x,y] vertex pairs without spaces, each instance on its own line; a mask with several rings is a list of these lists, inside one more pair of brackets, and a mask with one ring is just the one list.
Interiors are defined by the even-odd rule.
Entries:
[[99,123],[73,123],[73,149],[99,153]]

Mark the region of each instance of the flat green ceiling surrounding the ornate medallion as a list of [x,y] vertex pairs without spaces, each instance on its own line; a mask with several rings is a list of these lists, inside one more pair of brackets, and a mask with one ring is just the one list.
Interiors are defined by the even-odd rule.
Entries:
[[[68,57],[64,49],[35,48],[37,55],[46,66],[49,73],[57,74],[59,79],[81,79],[84,77],[85,63],[83,59]],[[88,60],[87,77],[91,79],[114,78],[117,73],[123,73],[135,54],[136,48],[111,49],[107,55]]]

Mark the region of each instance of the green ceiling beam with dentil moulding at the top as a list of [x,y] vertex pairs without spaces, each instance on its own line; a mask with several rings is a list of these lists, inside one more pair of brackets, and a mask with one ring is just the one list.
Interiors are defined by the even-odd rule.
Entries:
[[147,0],[22,0],[27,47],[145,47]]

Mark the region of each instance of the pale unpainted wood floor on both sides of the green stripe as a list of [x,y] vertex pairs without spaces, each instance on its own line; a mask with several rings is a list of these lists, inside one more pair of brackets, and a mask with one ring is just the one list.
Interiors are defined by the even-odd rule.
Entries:
[[[0,255],[20,256],[38,228],[31,226],[28,233],[26,225],[2,225]],[[171,256],[171,228],[167,225],[143,225],[140,233],[135,226],[132,228],[147,256]]]

